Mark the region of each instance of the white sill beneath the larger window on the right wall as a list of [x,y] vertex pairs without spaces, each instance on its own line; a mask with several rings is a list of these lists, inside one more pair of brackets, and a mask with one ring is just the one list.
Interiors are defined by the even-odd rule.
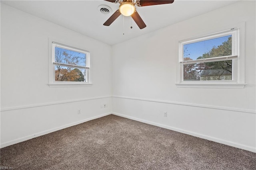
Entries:
[[176,83],[181,88],[244,88],[245,83]]

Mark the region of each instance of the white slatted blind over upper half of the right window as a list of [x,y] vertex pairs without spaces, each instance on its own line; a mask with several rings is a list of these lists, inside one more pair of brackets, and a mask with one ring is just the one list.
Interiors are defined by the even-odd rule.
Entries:
[[182,42],[182,60],[180,63],[198,63],[200,61],[226,60],[237,57],[238,31],[220,33]]

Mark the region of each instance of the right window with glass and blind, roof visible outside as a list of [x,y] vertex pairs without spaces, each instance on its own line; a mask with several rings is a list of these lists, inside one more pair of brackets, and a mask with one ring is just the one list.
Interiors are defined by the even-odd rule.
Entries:
[[238,37],[238,29],[232,28],[180,41],[179,82],[176,85],[238,84]]

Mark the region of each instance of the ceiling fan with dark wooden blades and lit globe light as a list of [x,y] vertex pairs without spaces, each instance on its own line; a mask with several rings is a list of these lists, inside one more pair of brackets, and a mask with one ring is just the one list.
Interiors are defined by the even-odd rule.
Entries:
[[108,18],[108,20],[103,24],[109,26],[116,18],[121,14],[124,16],[131,16],[135,23],[140,29],[146,27],[146,24],[136,11],[136,6],[151,6],[151,5],[160,5],[160,4],[172,4],[174,0],[105,0],[113,3],[120,3],[119,9],[114,12],[114,14]]

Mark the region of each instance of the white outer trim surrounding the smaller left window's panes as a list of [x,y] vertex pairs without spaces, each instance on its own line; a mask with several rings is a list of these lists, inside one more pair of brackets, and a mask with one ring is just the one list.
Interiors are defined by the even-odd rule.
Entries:
[[[53,68],[53,51],[52,51],[52,43],[56,43],[58,45],[64,45],[65,48],[70,47],[70,49],[76,49],[76,50],[81,50],[82,48],[79,48],[78,45],[76,44],[71,44],[71,43],[67,43],[64,40],[60,40],[60,39],[55,39],[55,38],[49,38],[49,83],[48,86],[49,87],[90,87],[92,86],[92,79],[91,79],[91,70],[92,70],[92,66],[90,63],[90,52],[86,51],[86,50],[81,50],[81,51],[86,51],[88,53],[88,55],[86,57],[88,57],[86,59],[86,67],[89,68],[86,71],[86,81],[87,82],[55,82],[54,81],[54,77],[53,77],[53,72],[55,71],[55,69]],[[76,48],[78,47],[78,48]]]

